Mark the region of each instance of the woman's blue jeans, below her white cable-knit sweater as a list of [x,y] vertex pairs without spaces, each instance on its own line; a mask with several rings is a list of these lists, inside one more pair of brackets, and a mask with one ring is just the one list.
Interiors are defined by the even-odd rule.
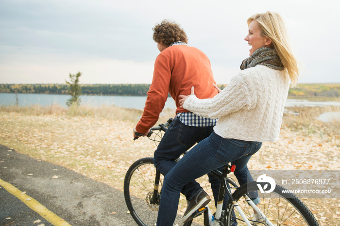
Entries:
[[[164,178],[157,226],[172,226],[176,218],[180,192],[188,182],[219,169],[228,162],[236,162],[238,164],[236,168],[239,167],[242,171],[238,173],[247,174],[248,168],[245,168],[247,162],[261,145],[261,142],[223,139],[213,132],[193,147]],[[246,177],[244,180],[247,180]]]

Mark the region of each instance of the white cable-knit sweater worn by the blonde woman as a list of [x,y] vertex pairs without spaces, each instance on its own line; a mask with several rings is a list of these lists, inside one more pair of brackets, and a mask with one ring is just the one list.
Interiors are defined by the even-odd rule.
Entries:
[[192,95],[183,107],[195,114],[219,118],[215,132],[223,138],[276,142],[289,90],[283,71],[256,65],[240,71],[211,99]]

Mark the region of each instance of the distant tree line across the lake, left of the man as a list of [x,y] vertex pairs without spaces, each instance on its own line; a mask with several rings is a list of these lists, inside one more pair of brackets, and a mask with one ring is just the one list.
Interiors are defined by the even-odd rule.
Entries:
[[[83,95],[146,96],[150,84],[80,84]],[[69,84],[0,84],[0,93],[69,94]]]

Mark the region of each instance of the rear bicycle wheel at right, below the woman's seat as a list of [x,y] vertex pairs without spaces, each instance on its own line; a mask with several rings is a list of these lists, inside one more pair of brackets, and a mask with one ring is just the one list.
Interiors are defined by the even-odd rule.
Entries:
[[[254,209],[248,203],[251,196],[249,193],[254,191],[257,191],[259,195],[260,203],[258,207],[265,217],[257,215],[256,219],[254,218]],[[239,187],[233,193],[233,197],[252,225],[319,226],[306,205],[296,195],[285,193],[285,191],[287,191],[285,188],[276,185],[272,193],[262,194],[256,181],[253,181]],[[235,212],[238,226],[246,225],[235,205],[229,200],[226,208],[227,226],[231,226],[232,222],[235,221],[235,217],[232,216],[233,211]]]

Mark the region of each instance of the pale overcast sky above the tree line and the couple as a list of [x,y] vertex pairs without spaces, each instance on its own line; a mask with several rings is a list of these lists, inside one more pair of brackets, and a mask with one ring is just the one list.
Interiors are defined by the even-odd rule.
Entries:
[[175,20],[227,84],[249,56],[247,18],[273,11],[303,63],[300,83],[340,82],[337,0],[0,0],[0,83],[151,83],[152,28]]

